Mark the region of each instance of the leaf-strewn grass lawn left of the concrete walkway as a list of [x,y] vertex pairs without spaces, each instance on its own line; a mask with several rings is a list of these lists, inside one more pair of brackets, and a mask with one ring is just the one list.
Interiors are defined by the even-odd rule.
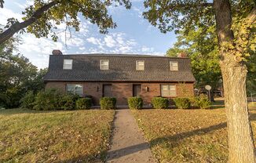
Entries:
[[0,162],[101,162],[113,110],[0,110]]

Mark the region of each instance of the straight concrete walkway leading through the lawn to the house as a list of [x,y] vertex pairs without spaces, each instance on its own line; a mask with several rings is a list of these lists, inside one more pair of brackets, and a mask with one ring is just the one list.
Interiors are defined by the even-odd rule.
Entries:
[[139,132],[129,109],[116,110],[111,149],[108,163],[155,163],[148,143]]

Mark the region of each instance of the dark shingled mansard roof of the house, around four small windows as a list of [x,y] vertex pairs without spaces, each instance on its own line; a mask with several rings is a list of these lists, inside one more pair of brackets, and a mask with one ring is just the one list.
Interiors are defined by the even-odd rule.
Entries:
[[[72,59],[72,70],[63,70],[63,60]],[[109,60],[109,70],[100,69],[101,60]],[[144,71],[136,71],[136,60],[144,60]],[[170,71],[170,61],[179,71]],[[45,81],[98,82],[195,82],[188,58],[166,56],[80,54],[50,55]]]

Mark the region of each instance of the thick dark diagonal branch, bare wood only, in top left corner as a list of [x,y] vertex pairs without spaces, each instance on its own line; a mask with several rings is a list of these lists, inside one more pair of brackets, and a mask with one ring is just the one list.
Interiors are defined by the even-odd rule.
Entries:
[[43,5],[41,8],[37,9],[35,13],[27,20],[24,20],[24,22],[22,23],[16,22],[15,24],[11,25],[7,30],[3,31],[0,34],[0,45],[6,40],[8,40],[9,38],[11,38],[13,34],[15,34],[16,32],[33,24],[36,20],[38,20],[42,16],[43,13],[45,13],[48,9],[50,9],[54,5],[57,5],[58,3],[59,1],[49,2],[48,4]]

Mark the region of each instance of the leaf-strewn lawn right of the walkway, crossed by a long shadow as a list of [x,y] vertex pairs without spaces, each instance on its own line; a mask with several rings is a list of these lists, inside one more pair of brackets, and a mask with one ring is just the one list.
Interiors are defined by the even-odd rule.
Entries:
[[[132,113],[160,162],[228,161],[225,109]],[[256,132],[256,110],[251,110],[251,119]]]

